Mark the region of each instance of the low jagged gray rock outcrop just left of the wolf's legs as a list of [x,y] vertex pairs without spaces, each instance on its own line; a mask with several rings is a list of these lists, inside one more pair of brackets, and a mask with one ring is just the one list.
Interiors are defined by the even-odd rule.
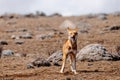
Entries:
[[40,66],[51,66],[51,63],[53,63],[54,66],[60,66],[58,64],[58,61],[62,59],[62,52],[57,51],[53,53],[51,56],[49,56],[47,59],[44,58],[37,58],[33,60],[32,62],[27,64],[27,68],[34,68],[34,67],[40,67]]

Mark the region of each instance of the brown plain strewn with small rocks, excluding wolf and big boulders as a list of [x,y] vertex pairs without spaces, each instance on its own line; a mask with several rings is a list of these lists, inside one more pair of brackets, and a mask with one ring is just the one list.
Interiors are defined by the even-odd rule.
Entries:
[[[120,15],[97,14],[85,16],[38,16],[0,17],[0,44],[10,54],[0,58],[0,80],[120,80],[120,61],[77,61],[74,75],[65,67],[60,74],[60,66],[27,68],[35,59],[47,58],[61,50],[67,39],[65,26],[70,20],[79,28],[78,50],[89,44],[101,44],[109,53],[119,54]],[[116,49],[117,48],[117,49]],[[12,52],[10,52],[12,50]]]

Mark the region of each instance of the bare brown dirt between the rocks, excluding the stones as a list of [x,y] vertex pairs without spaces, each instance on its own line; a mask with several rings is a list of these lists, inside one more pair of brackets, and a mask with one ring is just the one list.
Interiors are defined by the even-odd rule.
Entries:
[[[92,25],[89,33],[79,34],[78,50],[87,44],[100,43],[109,52],[115,52],[114,47],[120,45],[120,30],[103,31],[104,33],[100,34],[105,26],[120,25],[120,17],[113,15],[108,15],[107,20],[88,19],[85,16],[0,19],[0,39],[6,39],[9,43],[3,49],[12,49],[15,53],[27,54],[27,57],[2,57],[0,59],[0,80],[120,80],[120,61],[77,61],[79,73],[77,75],[70,71],[69,63],[65,67],[64,74],[59,73],[61,66],[26,68],[26,64],[33,59],[48,57],[52,52],[61,49],[63,41],[67,39],[67,34],[66,30],[59,26],[66,19],[84,21]],[[6,33],[5,30],[20,28],[27,28],[28,32],[33,34],[33,38],[23,39],[24,44],[16,45],[10,36],[22,34],[22,32]],[[38,28],[42,28],[42,30],[38,30]],[[64,32],[64,34],[45,40],[35,38],[35,35],[53,32],[53,29]]]

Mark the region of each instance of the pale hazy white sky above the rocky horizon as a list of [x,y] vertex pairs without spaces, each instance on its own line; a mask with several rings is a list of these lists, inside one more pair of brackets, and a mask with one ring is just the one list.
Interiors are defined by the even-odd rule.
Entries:
[[120,11],[120,0],[0,0],[0,14],[36,11],[47,15],[57,12],[64,16],[112,13]]

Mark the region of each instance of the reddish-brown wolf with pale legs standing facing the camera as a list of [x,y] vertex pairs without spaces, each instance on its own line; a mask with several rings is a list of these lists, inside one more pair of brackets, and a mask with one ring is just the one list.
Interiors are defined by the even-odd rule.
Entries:
[[64,71],[66,59],[68,56],[70,56],[70,64],[71,64],[71,70],[75,74],[76,72],[76,54],[77,54],[77,28],[75,29],[70,29],[68,28],[68,40],[65,41],[63,45],[63,63],[62,63],[62,68],[61,68],[61,73]]

